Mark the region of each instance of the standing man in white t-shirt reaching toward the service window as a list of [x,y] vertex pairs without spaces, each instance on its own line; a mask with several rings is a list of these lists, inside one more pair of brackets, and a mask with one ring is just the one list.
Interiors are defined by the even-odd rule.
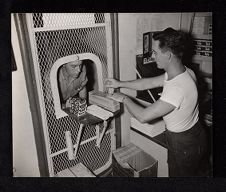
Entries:
[[199,123],[198,91],[192,70],[182,63],[185,49],[183,33],[172,28],[153,35],[153,55],[157,67],[165,74],[134,81],[107,79],[107,87],[148,90],[163,87],[159,100],[143,108],[127,95],[112,98],[124,103],[140,122],[163,117],[166,124],[169,176],[198,176],[206,152],[206,135]]

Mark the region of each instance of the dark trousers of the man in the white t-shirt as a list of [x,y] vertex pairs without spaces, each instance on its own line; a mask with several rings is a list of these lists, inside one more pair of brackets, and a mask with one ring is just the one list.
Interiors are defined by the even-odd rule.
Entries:
[[205,176],[207,137],[199,122],[184,132],[167,130],[166,142],[170,177]]

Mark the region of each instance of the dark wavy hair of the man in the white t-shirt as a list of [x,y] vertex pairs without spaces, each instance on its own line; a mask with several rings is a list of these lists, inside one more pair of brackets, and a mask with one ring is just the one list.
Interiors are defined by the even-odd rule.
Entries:
[[171,51],[178,58],[182,58],[185,50],[185,36],[181,31],[167,28],[164,31],[153,34],[153,39],[159,41],[159,48],[164,51]]

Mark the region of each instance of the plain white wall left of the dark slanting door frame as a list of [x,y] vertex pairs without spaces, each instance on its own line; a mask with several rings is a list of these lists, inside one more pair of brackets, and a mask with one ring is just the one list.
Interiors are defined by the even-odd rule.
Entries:
[[16,169],[14,176],[39,177],[31,111],[13,17],[11,18],[11,33],[17,65],[17,71],[12,72],[13,166]]

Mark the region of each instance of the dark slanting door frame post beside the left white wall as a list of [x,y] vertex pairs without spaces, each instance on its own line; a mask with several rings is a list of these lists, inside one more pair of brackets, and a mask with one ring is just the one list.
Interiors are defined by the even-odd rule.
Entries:
[[41,118],[41,110],[38,106],[40,106],[38,99],[38,90],[36,86],[35,74],[34,74],[34,65],[31,47],[29,42],[29,34],[27,29],[26,22],[26,14],[25,13],[15,13],[14,20],[16,25],[16,30],[19,39],[19,46],[21,50],[22,63],[24,68],[24,76],[25,82],[28,92],[28,99],[31,110],[31,117],[34,129],[34,137],[35,137],[35,145],[37,149],[37,159],[38,159],[38,167],[40,171],[41,177],[49,176],[49,168],[48,168],[48,158],[46,154],[46,146],[43,132],[43,124]]

